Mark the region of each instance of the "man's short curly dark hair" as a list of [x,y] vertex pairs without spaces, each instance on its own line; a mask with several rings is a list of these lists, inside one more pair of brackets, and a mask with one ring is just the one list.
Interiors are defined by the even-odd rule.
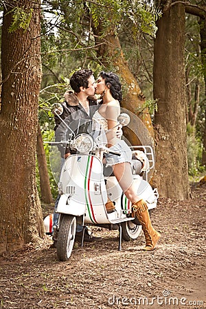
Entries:
[[88,88],[88,79],[93,75],[90,69],[79,70],[73,73],[70,78],[70,86],[74,92],[79,93],[80,87]]

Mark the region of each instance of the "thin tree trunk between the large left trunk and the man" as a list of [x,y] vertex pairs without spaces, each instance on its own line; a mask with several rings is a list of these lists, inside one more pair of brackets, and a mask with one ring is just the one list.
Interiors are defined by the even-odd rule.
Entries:
[[41,135],[41,128],[38,125],[38,135],[36,143],[36,155],[38,160],[38,172],[41,187],[41,201],[45,204],[53,203],[52,192],[49,184],[49,174],[47,169],[47,159],[45,156],[45,149],[43,146],[43,138]]

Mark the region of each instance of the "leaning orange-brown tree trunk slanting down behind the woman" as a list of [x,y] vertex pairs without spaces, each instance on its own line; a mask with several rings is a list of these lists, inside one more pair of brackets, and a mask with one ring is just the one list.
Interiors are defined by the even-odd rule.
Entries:
[[[101,25],[98,29],[93,27],[97,44],[100,43],[101,31]],[[111,30],[104,37],[104,42],[104,44],[99,45],[98,56],[101,57],[101,62],[105,67],[114,67],[115,72],[122,80],[122,86],[125,91],[122,107],[125,108],[125,112],[130,111],[130,124],[128,128],[124,128],[124,135],[133,145],[148,144],[154,146],[154,130],[150,114],[145,107],[146,100],[124,58],[119,38]],[[137,120],[137,116],[141,121]]]

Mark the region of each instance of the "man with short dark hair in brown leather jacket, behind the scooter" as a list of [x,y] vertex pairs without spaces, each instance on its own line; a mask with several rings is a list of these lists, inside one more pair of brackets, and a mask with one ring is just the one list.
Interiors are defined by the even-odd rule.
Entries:
[[[76,71],[73,73],[70,79],[70,86],[72,91],[67,91],[65,93],[65,102],[62,103],[63,113],[60,117],[64,120],[65,123],[71,124],[73,120],[77,119],[91,119],[93,114],[99,108],[99,103],[97,98],[95,98],[95,78],[93,77],[93,72],[90,69],[83,69]],[[64,123],[55,116],[56,126],[55,137],[56,141],[65,140],[67,134],[69,134],[69,130]],[[118,130],[118,136],[122,135],[122,129]],[[73,153],[67,146],[59,145],[58,150],[60,150],[62,163],[65,159]],[[75,152],[74,152],[75,153]],[[55,207],[54,207],[54,227],[57,225],[58,214],[56,213],[56,207],[58,205],[60,195],[56,199]],[[114,205],[112,202],[108,202],[106,205],[107,211],[113,211]],[[81,225],[77,226],[76,230],[76,239],[82,239],[82,230],[83,227]],[[84,233],[84,241],[93,242],[100,241],[102,238],[95,237],[89,234],[88,229],[85,230]],[[54,233],[54,240],[56,240]]]

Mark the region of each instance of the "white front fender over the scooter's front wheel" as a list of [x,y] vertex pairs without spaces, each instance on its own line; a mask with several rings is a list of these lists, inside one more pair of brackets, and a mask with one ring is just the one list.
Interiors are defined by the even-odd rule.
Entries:
[[62,194],[62,196],[60,196],[56,212],[59,214],[82,216],[85,212],[85,205],[74,201],[69,194]]

